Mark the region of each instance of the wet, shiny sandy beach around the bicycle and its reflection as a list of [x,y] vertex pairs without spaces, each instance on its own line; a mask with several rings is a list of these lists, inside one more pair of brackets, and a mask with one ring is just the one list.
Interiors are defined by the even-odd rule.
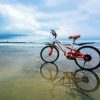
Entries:
[[[41,66],[45,65],[40,58],[43,47],[44,45],[29,44],[0,45],[0,100],[99,100],[99,86],[86,92],[76,86],[72,88],[70,85],[55,84],[62,79],[64,72],[79,69],[73,60],[66,59],[62,53],[55,62],[56,65],[52,65],[59,70],[57,74],[56,69],[53,72],[57,79],[43,77],[40,71]],[[94,72],[100,77],[100,68]]]

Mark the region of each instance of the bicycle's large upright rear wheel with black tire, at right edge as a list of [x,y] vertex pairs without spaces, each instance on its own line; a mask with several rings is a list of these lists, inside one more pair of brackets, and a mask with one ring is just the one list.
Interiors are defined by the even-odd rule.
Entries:
[[[86,52],[86,49],[88,50]],[[85,50],[83,52],[83,50]],[[91,52],[91,51],[93,52]],[[80,53],[86,54],[90,57],[90,60],[86,61],[85,65],[85,59],[75,59],[75,63],[82,69],[86,69],[86,70],[94,70],[96,68],[98,68],[100,66],[100,51],[92,46],[83,46],[80,47],[77,51],[79,51]]]

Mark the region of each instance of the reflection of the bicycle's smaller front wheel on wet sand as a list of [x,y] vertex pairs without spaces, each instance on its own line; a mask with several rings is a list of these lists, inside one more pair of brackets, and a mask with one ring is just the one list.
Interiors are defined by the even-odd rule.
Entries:
[[55,63],[44,63],[40,67],[40,74],[46,80],[55,80],[59,69]]

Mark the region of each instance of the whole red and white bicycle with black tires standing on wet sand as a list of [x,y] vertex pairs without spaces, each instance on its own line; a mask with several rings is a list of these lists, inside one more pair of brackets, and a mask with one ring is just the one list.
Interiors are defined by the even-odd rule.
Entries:
[[[75,63],[82,69],[94,70],[100,66],[100,51],[86,44],[93,44],[94,42],[76,44],[75,41],[80,35],[70,36],[69,39],[73,39],[72,44],[62,44],[57,40],[57,33],[51,30],[54,41],[45,46],[41,52],[40,57],[45,62],[55,62],[59,58],[59,50],[63,52],[69,60],[74,60]],[[74,49],[73,46],[81,46],[79,49]],[[69,52],[67,52],[67,50]]]

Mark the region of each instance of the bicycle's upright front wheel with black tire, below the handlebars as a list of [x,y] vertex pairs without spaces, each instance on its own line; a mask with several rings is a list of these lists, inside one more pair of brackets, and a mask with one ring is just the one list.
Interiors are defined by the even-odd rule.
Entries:
[[52,54],[50,55],[51,49],[52,46],[46,46],[41,50],[40,56],[43,61],[52,63],[58,59],[59,57],[58,49],[56,47],[53,47]]

